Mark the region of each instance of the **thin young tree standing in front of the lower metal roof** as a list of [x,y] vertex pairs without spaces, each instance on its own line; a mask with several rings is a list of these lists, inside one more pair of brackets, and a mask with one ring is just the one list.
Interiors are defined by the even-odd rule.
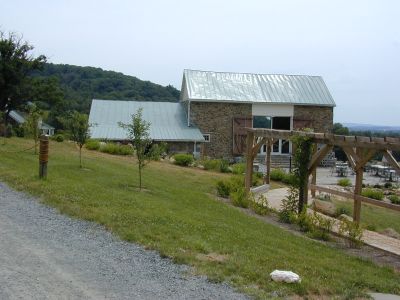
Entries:
[[118,123],[119,126],[128,131],[128,138],[135,148],[139,168],[139,190],[142,190],[142,169],[151,159],[151,151],[148,151],[151,145],[149,133],[150,122],[143,120],[142,112],[143,109],[139,108],[137,112],[132,115],[132,122],[130,124]]

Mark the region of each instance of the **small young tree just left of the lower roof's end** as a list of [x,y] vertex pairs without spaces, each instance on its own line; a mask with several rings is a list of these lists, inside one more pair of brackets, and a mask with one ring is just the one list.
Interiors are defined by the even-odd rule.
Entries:
[[82,168],[82,147],[90,138],[88,116],[75,111],[66,125],[71,132],[71,139],[79,146],[79,167]]

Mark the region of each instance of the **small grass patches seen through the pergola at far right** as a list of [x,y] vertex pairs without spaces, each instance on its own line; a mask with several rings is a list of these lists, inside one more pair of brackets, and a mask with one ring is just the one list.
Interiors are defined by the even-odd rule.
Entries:
[[[353,216],[352,200],[335,200],[332,202],[337,207],[346,207],[350,216]],[[390,210],[384,207],[374,206],[366,203],[361,204],[361,223],[376,227],[376,231],[382,231],[386,228],[393,228],[400,233],[400,214],[398,211]]]

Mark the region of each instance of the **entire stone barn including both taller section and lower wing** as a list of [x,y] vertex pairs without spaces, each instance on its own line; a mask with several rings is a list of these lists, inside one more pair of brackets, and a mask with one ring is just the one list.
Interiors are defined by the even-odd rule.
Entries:
[[[171,152],[231,159],[244,153],[245,127],[330,132],[335,102],[319,76],[184,70],[179,103],[93,100],[92,137],[126,139],[118,122],[140,107],[151,138],[168,142]],[[273,145],[273,160],[290,153],[289,141]]]

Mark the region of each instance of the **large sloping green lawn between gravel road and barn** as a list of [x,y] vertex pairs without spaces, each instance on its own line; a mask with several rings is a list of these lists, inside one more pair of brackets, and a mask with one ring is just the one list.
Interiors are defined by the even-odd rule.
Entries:
[[[153,162],[144,170],[146,190],[138,192],[133,158],[85,151],[84,169],[79,169],[72,143],[51,142],[48,179],[39,180],[37,156],[4,152],[30,143],[12,138],[0,145],[2,181],[62,213],[100,223],[122,239],[189,264],[211,280],[260,298],[274,291],[341,298],[366,291],[400,294],[400,275],[391,268],[295,236],[215,200],[215,182],[229,175]],[[275,269],[298,273],[301,284],[272,282],[269,273]]]

